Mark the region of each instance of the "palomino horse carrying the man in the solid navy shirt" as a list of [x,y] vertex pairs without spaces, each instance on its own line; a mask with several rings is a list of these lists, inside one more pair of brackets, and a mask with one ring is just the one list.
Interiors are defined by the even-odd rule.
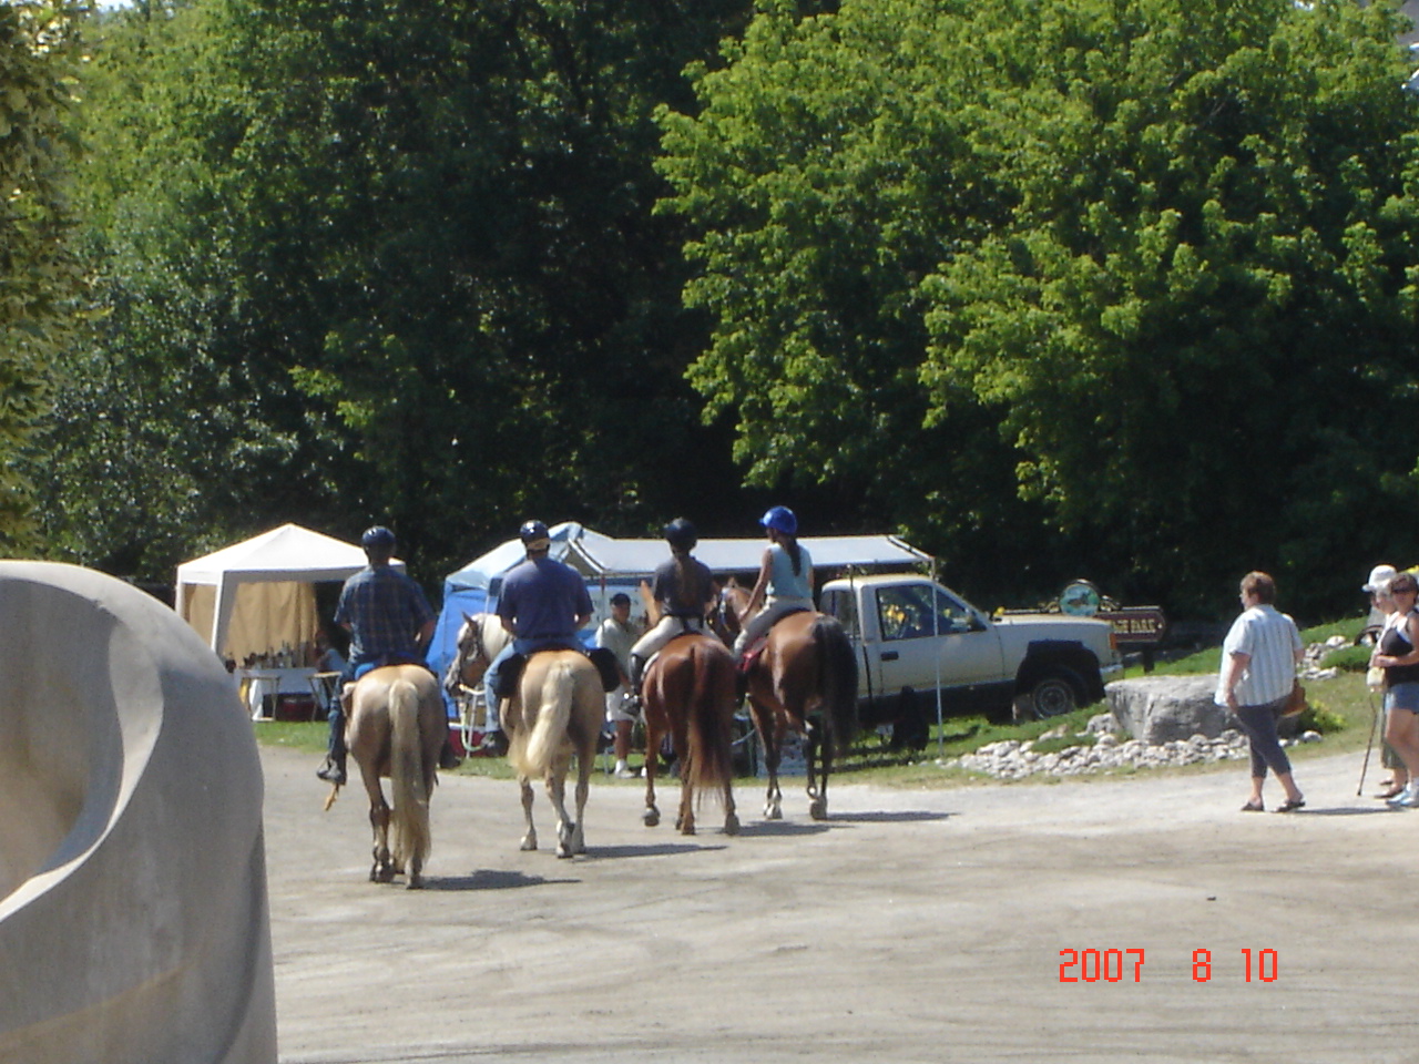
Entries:
[[[478,682],[495,647],[505,645],[507,630],[495,614],[464,614],[458,630],[457,671],[463,682]],[[532,779],[546,782],[546,793],[556,810],[556,855],[586,853],[585,816],[596,763],[596,739],[606,716],[602,677],[596,665],[576,650],[543,650],[532,654],[518,689],[505,706],[501,725],[508,736],[508,762],[518,773],[522,811],[526,816],[524,850],[536,850],[532,823]],[[576,820],[566,814],[566,773],[576,755]]]

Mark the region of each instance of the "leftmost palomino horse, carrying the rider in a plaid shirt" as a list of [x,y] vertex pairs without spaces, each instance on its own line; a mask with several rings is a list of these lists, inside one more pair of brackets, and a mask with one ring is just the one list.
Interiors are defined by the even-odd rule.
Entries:
[[[375,829],[372,882],[390,882],[407,868],[409,888],[424,885],[423,868],[431,848],[429,797],[447,733],[448,716],[438,684],[423,665],[385,665],[355,684],[345,745],[369,794],[369,823]],[[382,776],[390,780],[393,811],[385,802]],[[336,783],[325,800],[326,809],[339,793]]]

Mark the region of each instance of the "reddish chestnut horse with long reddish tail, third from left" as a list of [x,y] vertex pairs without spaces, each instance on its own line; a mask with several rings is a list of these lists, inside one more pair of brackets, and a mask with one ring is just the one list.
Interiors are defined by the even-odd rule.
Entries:
[[675,827],[695,833],[697,792],[718,789],[724,833],[739,833],[734,811],[734,654],[717,638],[688,633],[656,655],[641,684],[646,706],[646,827],[660,823],[656,765],[660,741],[670,733],[680,759],[680,814]]

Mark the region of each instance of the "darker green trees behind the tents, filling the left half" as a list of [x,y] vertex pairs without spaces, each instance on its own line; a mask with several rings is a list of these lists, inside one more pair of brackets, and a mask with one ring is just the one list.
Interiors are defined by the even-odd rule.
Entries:
[[[128,445],[55,426],[57,531],[158,573],[183,526],[196,546],[379,519],[438,572],[528,512],[639,529],[690,498],[667,465],[704,438],[681,380],[700,326],[677,223],[650,217],[651,109],[688,102],[680,70],[739,17],[199,0],[111,18],[85,128],[119,140],[87,174],[112,315],[64,401]],[[74,474],[114,461],[122,488],[89,488],[99,523],[79,521]]]

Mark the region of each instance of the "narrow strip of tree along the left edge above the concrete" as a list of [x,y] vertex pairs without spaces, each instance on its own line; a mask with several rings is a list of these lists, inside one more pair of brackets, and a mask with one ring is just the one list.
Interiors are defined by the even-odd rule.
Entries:
[[24,470],[55,350],[79,318],[67,197],[84,4],[0,4],[0,552],[34,548]]

